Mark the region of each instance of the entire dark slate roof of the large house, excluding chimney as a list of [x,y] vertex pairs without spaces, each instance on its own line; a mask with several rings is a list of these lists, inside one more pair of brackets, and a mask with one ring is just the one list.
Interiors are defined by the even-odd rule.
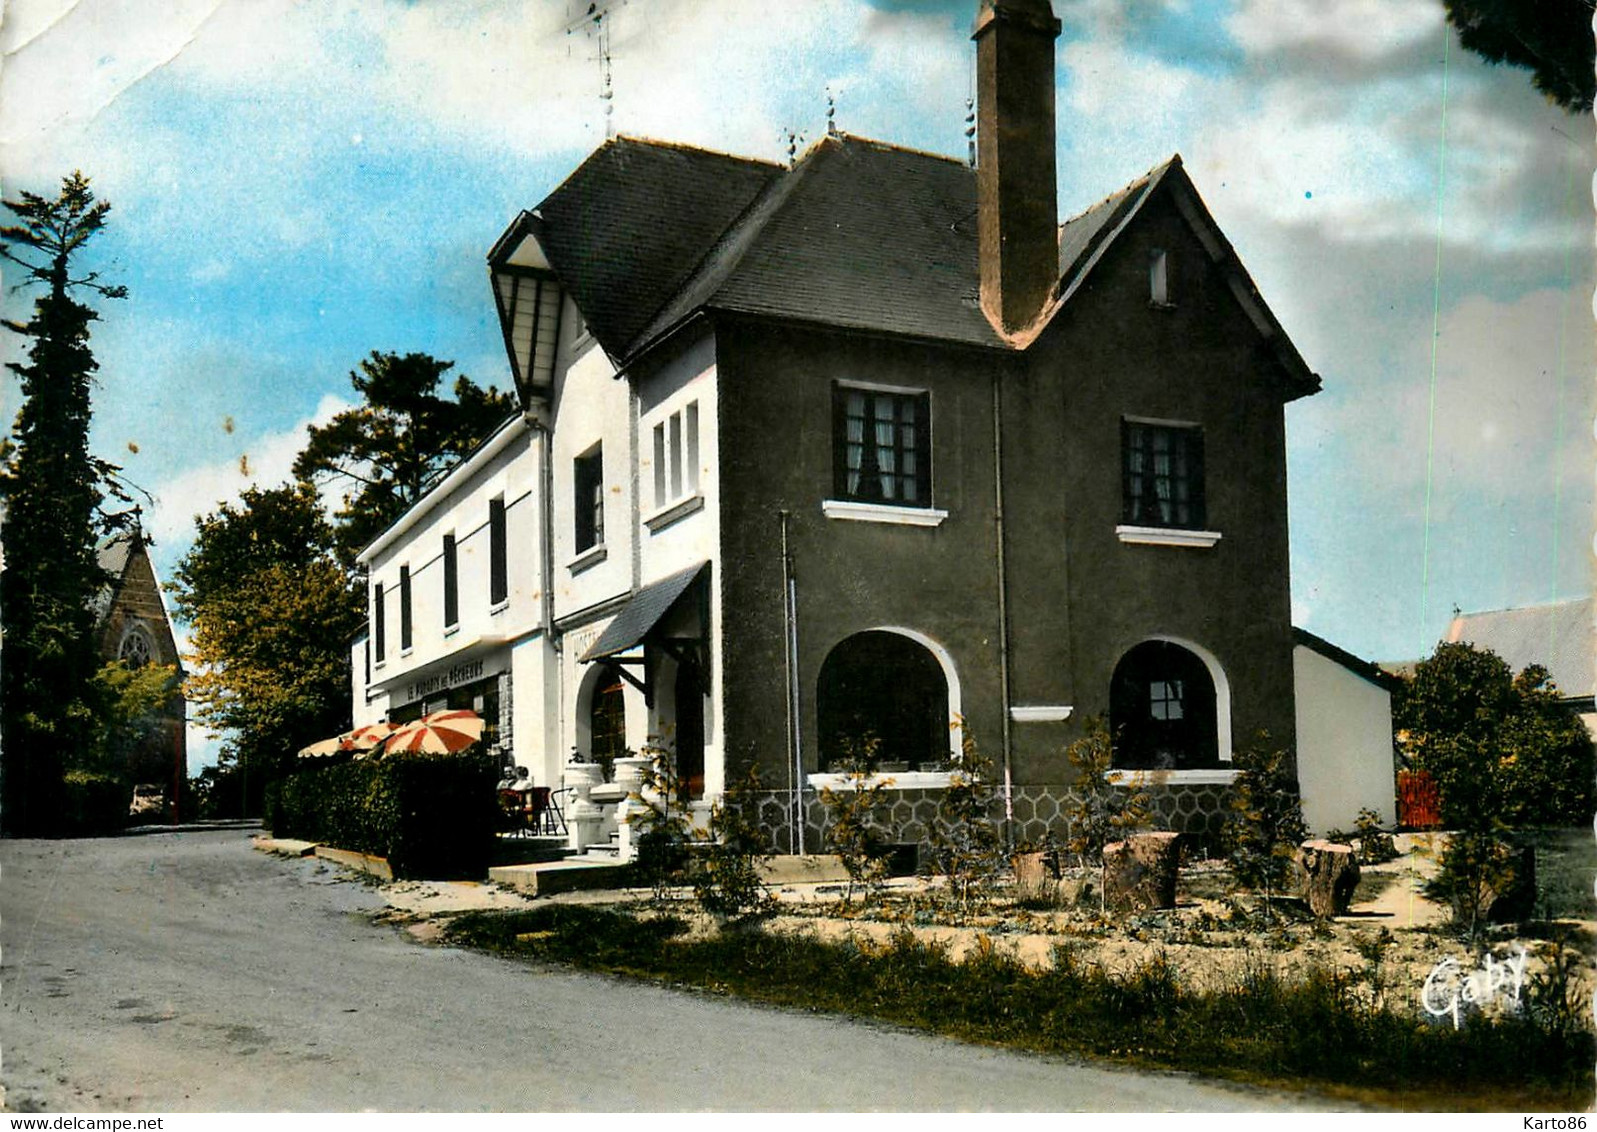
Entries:
[[527,230],[620,361],[699,311],[1014,350],[1068,305],[1159,192],[1226,270],[1282,367],[1286,398],[1316,391],[1319,378],[1265,307],[1180,156],[1060,225],[1054,300],[1009,337],[981,310],[976,171],[848,134],[827,136],[792,168],[631,137],[605,142],[533,211]]

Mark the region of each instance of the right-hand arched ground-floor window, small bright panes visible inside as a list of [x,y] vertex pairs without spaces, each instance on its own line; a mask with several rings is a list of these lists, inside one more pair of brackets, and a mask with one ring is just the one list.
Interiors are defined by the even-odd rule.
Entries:
[[1110,682],[1115,766],[1198,770],[1220,765],[1215,688],[1209,666],[1171,640],[1145,640]]

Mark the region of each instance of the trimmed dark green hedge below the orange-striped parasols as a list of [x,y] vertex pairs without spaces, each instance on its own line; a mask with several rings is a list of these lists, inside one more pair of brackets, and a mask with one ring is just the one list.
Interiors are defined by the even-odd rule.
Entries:
[[278,837],[388,859],[394,877],[485,877],[500,779],[492,755],[390,755],[289,774],[267,795]]

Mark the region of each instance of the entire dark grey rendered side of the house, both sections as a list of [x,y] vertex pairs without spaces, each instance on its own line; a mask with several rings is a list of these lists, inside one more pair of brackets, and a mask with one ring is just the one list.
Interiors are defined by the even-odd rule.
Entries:
[[[1174,307],[1148,302],[1151,249],[1169,254]],[[1070,704],[1070,720],[1016,722],[1016,835],[1060,832],[1064,747],[1108,714],[1118,659],[1140,640],[1193,642],[1223,666],[1233,742],[1292,742],[1286,444],[1279,378],[1258,332],[1167,198],[1150,201],[1091,287],[1024,356],[929,348],[797,327],[722,323],[722,586],[727,752],[767,787],[787,778],[778,511],[791,513],[798,583],[805,766],[827,653],[872,627],[915,629],[958,671],[968,728],[1001,757],[993,543],[992,382],[1003,374],[1011,703]],[[936,528],[827,519],[832,382],[928,388]],[[1124,544],[1121,417],[1204,429],[1212,549]],[[920,835],[934,798],[909,798]],[[1179,805],[1177,805],[1179,803]],[[1169,787],[1159,808],[1212,845],[1222,787]],[[811,814],[811,822],[819,814]],[[779,808],[763,814],[786,833]],[[816,848],[814,840],[810,848]]]

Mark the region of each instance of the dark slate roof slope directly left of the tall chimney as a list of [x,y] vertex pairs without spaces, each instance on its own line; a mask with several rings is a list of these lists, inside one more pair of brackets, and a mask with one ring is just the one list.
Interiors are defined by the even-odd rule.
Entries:
[[829,136],[722,236],[644,342],[703,307],[1000,346],[976,255],[969,166]]

